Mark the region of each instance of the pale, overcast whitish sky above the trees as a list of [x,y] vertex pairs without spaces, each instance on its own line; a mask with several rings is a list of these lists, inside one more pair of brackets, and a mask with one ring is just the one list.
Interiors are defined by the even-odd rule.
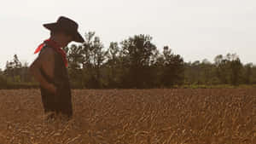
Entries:
[[38,44],[49,38],[45,23],[67,16],[79,32],[96,32],[105,47],[149,34],[185,61],[213,61],[236,53],[256,64],[255,0],[9,0],[0,5],[0,68],[18,55],[29,64]]

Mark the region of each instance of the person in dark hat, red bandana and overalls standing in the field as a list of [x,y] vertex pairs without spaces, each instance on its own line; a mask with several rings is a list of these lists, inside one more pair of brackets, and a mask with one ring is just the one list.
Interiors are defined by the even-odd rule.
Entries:
[[79,25],[61,16],[55,23],[44,24],[50,31],[49,39],[40,44],[35,54],[38,58],[30,66],[30,72],[40,84],[44,112],[48,118],[57,114],[72,118],[72,97],[67,74],[66,53],[61,49],[75,41],[84,43],[79,34]]

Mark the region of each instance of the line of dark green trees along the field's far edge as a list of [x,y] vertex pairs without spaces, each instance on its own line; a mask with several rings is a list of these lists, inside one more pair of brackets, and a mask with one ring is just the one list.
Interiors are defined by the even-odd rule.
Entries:
[[[243,65],[238,55],[217,55],[214,62],[184,62],[168,46],[160,52],[149,35],[135,35],[106,48],[95,32],[85,42],[64,48],[68,73],[77,89],[150,89],[182,85],[256,84],[256,66]],[[17,55],[0,71],[0,88],[38,88]]]

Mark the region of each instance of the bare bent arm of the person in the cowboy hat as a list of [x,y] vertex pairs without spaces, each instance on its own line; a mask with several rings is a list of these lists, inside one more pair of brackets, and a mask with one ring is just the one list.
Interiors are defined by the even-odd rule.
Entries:
[[39,82],[39,84],[44,88],[48,89],[53,94],[56,93],[56,88],[54,84],[49,84],[47,80],[42,75],[40,69],[42,68],[44,72],[50,77],[54,76],[54,53],[51,49],[45,49],[42,51],[41,55],[38,55],[38,58],[33,61],[29,70],[34,76],[34,78]]

